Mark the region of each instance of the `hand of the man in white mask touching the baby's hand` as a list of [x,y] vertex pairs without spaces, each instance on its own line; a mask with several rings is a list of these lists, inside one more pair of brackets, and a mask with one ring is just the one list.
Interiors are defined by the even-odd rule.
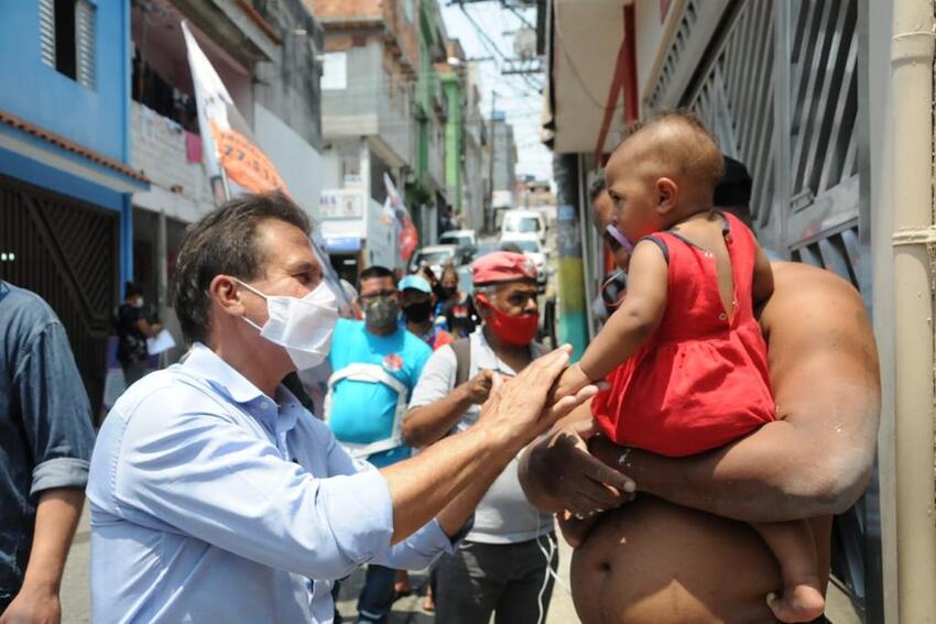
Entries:
[[503,427],[508,439],[516,442],[519,451],[556,420],[595,396],[598,386],[587,385],[552,405],[546,403],[548,391],[568,363],[570,351],[567,346],[556,349],[534,360],[507,383],[500,375],[494,375],[490,398],[481,407],[479,424]]

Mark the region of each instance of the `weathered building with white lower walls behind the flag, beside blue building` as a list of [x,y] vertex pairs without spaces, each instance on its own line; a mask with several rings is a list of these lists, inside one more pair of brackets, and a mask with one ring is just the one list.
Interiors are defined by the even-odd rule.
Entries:
[[[322,28],[302,0],[131,3],[131,160],[152,180],[134,206],[134,278],[181,344],[168,285],[185,227],[211,210],[182,22],[231,95],[258,146],[309,216],[322,191]],[[182,349],[168,354],[178,357]]]

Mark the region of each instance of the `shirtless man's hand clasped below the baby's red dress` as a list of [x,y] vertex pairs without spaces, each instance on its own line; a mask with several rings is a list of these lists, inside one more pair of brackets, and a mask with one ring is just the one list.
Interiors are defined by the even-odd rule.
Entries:
[[589,517],[633,499],[634,482],[588,451],[587,440],[597,433],[590,412],[585,409],[559,423],[547,438],[527,450],[521,483],[534,504]]

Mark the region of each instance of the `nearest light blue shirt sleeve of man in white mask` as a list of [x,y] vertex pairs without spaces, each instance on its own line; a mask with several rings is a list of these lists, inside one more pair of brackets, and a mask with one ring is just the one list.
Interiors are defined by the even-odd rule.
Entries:
[[[265,566],[338,579],[387,551],[393,510],[377,470],[317,479],[269,441],[211,413],[189,392],[163,392],[156,414],[127,424],[113,475],[118,513],[142,511]],[[187,410],[182,406],[187,404]]]

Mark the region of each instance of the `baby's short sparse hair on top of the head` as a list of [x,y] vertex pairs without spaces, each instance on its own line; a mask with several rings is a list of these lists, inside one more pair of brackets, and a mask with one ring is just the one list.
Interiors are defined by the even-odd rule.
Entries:
[[721,150],[698,117],[690,112],[663,112],[649,121],[629,124],[616,152],[625,146],[638,150],[638,166],[649,175],[676,173],[712,189],[723,175]]

